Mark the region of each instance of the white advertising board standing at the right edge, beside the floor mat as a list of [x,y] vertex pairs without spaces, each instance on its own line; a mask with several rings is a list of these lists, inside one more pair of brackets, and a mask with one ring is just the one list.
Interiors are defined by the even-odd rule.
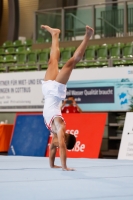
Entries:
[[118,159],[133,160],[133,112],[127,112]]

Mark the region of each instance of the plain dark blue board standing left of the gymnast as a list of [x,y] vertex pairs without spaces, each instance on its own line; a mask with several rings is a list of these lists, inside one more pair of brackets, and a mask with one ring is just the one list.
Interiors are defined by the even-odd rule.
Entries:
[[8,155],[44,156],[49,134],[42,115],[17,115]]

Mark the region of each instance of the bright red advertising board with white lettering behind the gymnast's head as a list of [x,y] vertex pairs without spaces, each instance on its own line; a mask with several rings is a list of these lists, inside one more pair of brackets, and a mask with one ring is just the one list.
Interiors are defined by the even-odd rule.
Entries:
[[[63,114],[67,132],[76,137],[76,144],[67,151],[68,158],[98,158],[104,133],[107,113]],[[49,144],[46,156],[49,156]],[[57,154],[59,156],[59,149]]]

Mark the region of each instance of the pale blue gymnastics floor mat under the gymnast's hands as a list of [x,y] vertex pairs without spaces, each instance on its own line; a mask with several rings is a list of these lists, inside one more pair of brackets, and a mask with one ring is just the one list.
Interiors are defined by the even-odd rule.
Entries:
[[133,161],[68,159],[67,163],[76,171],[50,169],[48,158],[1,156],[0,199],[133,200]]

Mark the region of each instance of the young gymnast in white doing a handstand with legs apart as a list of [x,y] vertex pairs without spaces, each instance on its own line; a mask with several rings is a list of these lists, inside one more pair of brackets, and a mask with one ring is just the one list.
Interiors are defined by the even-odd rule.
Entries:
[[[72,171],[66,164],[66,149],[72,149],[76,139],[73,135],[66,133],[66,124],[61,114],[60,103],[66,97],[66,83],[76,64],[82,59],[88,41],[93,34],[93,29],[86,26],[84,39],[63,68],[58,70],[58,61],[60,58],[59,51],[59,29],[53,29],[49,26],[42,25],[41,28],[47,30],[52,36],[52,46],[48,68],[42,81],[42,93],[45,99],[43,117],[47,128],[52,132],[52,141],[49,152],[49,162],[52,168],[62,168],[63,170]],[[56,147],[59,147],[61,166],[54,164]]]

